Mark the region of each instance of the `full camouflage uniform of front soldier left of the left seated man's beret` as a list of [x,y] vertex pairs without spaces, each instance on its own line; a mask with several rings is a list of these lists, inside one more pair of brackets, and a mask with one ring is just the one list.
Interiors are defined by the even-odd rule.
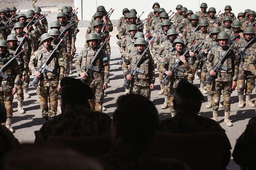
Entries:
[[[50,46],[48,50],[42,45],[31,57],[29,62],[29,70],[31,73],[38,71],[37,68],[44,63],[45,60],[49,57],[53,50],[53,47]],[[57,86],[60,83],[61,79],[64,77],[64,59],[60,51],[54,53],[54,58],[52,59],[49,67],[53,69],[53,72],[47,72],[47,77],[43,76],[39,78],[38,86],[36,89],[36,94],[40,99],[40,107],[42,110],[42,117],[48,116],[48,97],[50,101],[50,111],[49,116],[53,117],[57,114],[58,106],[58,92]]]

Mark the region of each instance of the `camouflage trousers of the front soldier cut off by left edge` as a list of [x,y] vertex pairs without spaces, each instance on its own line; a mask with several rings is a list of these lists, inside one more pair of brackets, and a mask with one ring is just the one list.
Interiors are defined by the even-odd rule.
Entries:
[[5,105],[6,109],[6,116],[7,118],[12,117],[12,101],[13,101],[13,96],[12,96],[12,89],[14,87],[14,81],[9,80],[9,81],[1,81],[1,86],[0,86],[0,102]]

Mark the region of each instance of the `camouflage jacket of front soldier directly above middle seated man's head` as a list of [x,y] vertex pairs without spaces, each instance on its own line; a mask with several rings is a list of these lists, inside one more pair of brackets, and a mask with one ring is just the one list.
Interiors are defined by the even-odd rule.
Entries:
[[[131,65],[132,68],[136,64],[137,60],[140,58],[141,54],[136,49],[135,52],[131,52],[127,57],[125,57],[124,63],[122,64],[124,77],[129,74],[128,65]],[[144,70],[144,74],[138,73],[137,76],[139,80],[134,80],[134,85],[149,86],[150,82],[155,82],[154,60],[149,53],[146,53],[146,55],[142,59],[142,63],[138,67],[141,70]]]

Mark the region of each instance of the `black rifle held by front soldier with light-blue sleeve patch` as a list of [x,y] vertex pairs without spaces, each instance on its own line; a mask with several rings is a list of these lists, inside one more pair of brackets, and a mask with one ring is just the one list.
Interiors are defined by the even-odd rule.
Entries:
[[[89,75],[91,78],[93,78],[93,74],[92,74],[93,71],[96,71],[96,72],[100,71],[100,69],[98,67],[95,67],[93,64],[95,64],[95,62],[97,61],[98,55],[100,54],[102,48],[105,46],[105,44],[107,43],[110,37],[111,35],[109,35],[108,38],[105,39],[104,43],[98,49],[97,53],[92,58],[91,62],[85,66],[86,68],[85,74]],[[81,81],[85,83],[85,79],[81,78]]]

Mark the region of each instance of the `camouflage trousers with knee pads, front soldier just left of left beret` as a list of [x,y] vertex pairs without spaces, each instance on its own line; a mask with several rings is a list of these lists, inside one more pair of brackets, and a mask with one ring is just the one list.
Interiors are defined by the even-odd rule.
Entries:
[[[36,94],[40,100],[42,117],[48,116],[48,113],[51,117],[54,117],[57,114],[58,84],[59,80],[57,78],[39,80]],[[50,104],[50,109],[48,107],[48,101]]]

